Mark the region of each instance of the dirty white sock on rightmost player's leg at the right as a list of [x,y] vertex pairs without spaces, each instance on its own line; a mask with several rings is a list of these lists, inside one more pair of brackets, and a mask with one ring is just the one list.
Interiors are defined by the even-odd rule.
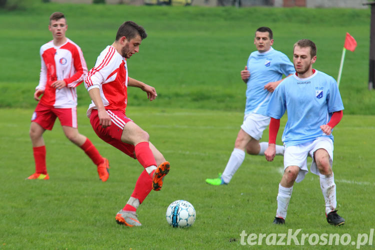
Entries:
[[319,173],[320,189],[324,196],[325,213],[336,209],[336,184],[334,183],[333,172],[329,175]]

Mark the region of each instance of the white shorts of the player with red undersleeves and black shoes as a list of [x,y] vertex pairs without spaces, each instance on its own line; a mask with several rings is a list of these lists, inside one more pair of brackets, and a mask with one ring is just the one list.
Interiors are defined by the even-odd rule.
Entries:
[[306,175],[306,173],[308,172],[307,156],[310,155],[312,158],[310,171],[319,175],[319,169],[317,168],[316,162],[314,161],[314,152],[319,148],[323,148],[328,152],[329,164],[332,165],[333,142],[331,139],[325,136],[321,136],[311,142],[285,147],[284,170],[288,166],[298,166],[299,172],[295,181],[300,182],[304,178],[304,175]]

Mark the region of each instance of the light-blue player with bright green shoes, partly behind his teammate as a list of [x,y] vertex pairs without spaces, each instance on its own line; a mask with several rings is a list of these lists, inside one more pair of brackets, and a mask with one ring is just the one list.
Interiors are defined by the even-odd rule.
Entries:
[[[219,174],[218,178],[206,179],[206,182],[211,185],[229,183],[242,164],[245,151],[249,154],[264,155],[268,143],[259,143],[259,140],[270,120],[266,115],[269,98],[282,80],[282,75],[288,76],[294,73],[294,67],[289,58],[271,47],[273,37],[270,28],[256,29],[254,44],[257,50],[250,54],[247,65],[241,71],[241,78],[247,84],[243,123],[224,172],[222,175]],[[283,155],[283,153],[284,147],[276,145],[276,154]]]

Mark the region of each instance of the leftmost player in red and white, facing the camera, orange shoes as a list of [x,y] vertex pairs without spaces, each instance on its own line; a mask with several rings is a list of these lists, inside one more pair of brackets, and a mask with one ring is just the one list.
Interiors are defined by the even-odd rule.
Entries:
[[46,129],[52,129],[58,117],[66,137],[90,157],[97,166],[99,178],[106,181],[109,176],[108,160],[103,158],[91,141],[77,129],[75,87],[82,83],[87,73],[82,50],[65,36],[67,24],[63,13],[54,12],[50,15],[48,29],[53,39],[40,47],[40,78],[34,92],[34,99],[38,104],[32,114],[29,131],[35,173],[27,179],[49,179],[42,135]]

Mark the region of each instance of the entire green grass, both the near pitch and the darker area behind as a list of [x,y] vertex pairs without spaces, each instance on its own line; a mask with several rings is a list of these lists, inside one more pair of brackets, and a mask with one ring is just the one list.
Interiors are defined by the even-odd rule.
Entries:
[[[94,134],[85,116],[89,97],[82,85],[77,90],[79,131],[109,158],[108,181],[98,180],[96,167],[64,137],[58,121],[44,134],[50,179],[24,180],[34,171],[28,137],[36,104],[32,94],[38,82],[38,50],[50,39],[47,18],[53,11],[66,14],[66,34],[81,46],[88,67],[113,41],[122,21],[133,19],[148,32],[128,67],[130,76],[155,86],[158,97],[149,102],[139,89],[130,88],[127,115],[148,131],[152,143],[171,162],[171,170],[161,191],[151,192],[139,206],[142,227],[128,228],[114,220],[142,167]],[[333,171],[344,226],[326,222],[319,180],[311,173],[294,185],[286,224],[271,223],[282,157],[267,162],[263,156],[246,155],[229,185],[209,186],[204,181],[224,169],[232,151],[245,100],[239,71],[254,50],[253,31],[260,25],[273,29],[274,47],[289,58],[296,40],[314,40],[318,46],[315,68],[335,78],[345,32],[357,40],[356,50],[346,52],[340,83],[345,110],[333,133]],[[344,243],[332,246],[313,246],[307,239],[304,245],[292,241],[291,245],[268,246],[263,239],[253,247],[355,249],[358,233],[369,234],[374,228],[375,93],[367,90],[368,9],[48,3],[24,10],[0,9],[0,30],[0,249],[249,248],[247,237],[246,245],[241,244],[243,230],[269,235],[288,233],[289,229],[301,229],[299,241],[302,233],[346,233],[351,240],[346,244],[342,238]],[[278,143],[284,124],[285,117]],[[265,130],[262,140],[267,138]],[[176,199],[194,205],[196,221],[192,227],[167,224],[166,207]],[[360,248],[373,248],[373,243],[367,241]]]

